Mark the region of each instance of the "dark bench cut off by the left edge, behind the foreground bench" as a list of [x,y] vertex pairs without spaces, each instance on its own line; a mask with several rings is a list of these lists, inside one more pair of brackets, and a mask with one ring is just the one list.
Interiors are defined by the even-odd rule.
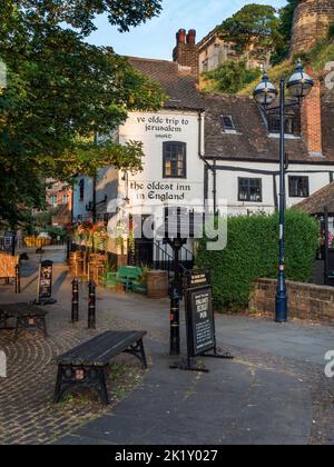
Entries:
[[[48,336],[45,308],[30,304],[0,305],[0,330],[14,329],[14,338],[19,337],[22,330],[41,330],[45,337]],[[9,319],[16,320],[14,328],[8,327]]]

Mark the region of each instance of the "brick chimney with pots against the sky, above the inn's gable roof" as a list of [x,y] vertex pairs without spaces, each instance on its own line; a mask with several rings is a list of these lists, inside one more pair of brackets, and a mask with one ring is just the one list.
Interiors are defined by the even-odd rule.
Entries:
[[179,29],[176,34],[176,47],[173,51],[173,60],[183,68],[188,68],[190,73],[199,78],[199,57],[196,46],[196,31]]

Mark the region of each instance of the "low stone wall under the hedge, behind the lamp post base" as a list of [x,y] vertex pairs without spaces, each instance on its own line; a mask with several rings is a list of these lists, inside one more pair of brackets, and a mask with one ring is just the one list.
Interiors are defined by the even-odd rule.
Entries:
[[[275,312],[274,279],[258,279],[250,294],[249,310]],[[287,281],[288,308],[292,318],[334,321],[334,288]]]

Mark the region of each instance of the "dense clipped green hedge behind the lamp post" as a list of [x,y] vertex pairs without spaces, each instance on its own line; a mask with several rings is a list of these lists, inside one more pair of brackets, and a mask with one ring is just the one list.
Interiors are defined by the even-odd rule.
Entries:
[[[196,265],[210,270],[215,306],[244,306],[253,281],[276,278],[278,270],[278,216],[232,217],[227,220],[227,248],[208,251],[202,240]],[[286,212],[286,277],[306,282],[313,274],[318,246],[318,225],[307,215]]]

